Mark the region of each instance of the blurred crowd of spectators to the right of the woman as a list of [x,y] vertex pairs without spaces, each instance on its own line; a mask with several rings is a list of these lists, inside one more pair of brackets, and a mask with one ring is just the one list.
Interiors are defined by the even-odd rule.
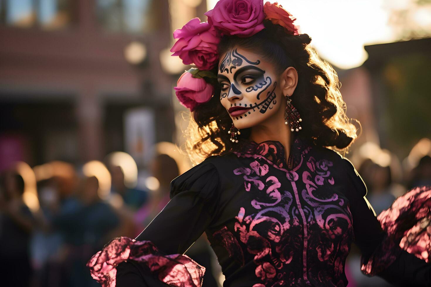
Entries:
[[[402,161],[374,143],[365,143],[352,154],[352,162],[367,187],[366,198],[376,216],[395,199],[416,186],[431,185],[431,140],[421,139]],[[352,244],[346,260],[349,287],[393,286],[378,276],[361,272],[360,252]]]

